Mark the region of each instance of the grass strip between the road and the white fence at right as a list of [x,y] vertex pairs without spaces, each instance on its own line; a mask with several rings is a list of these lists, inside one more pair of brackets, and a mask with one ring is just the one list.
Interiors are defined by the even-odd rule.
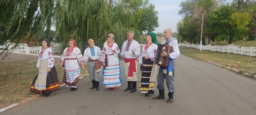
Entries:
[[200,61],[211,61],[226,67],[237,69],[240,73],[246,72],[250,75],[256,75],[256,57],[247,55],[222,53],[218,51],[209,51],[191,48],[179,47],[181,54]]

